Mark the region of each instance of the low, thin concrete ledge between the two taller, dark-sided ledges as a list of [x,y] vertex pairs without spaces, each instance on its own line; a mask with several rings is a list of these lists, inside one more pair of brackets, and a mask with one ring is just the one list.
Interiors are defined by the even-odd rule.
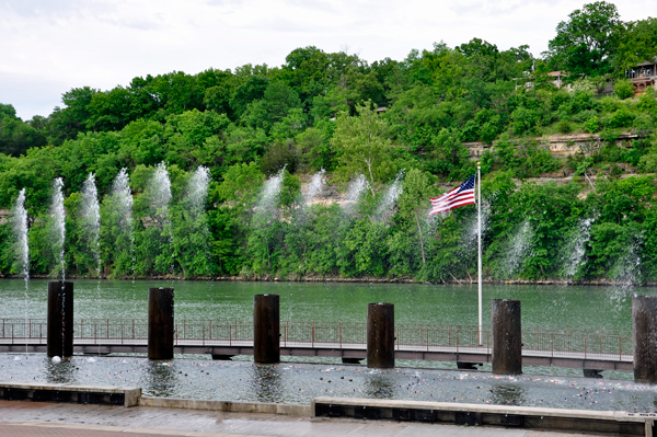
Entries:
[[180,398],[141,396],[139,399],[139,406],[226,411],[232,413],[265,413],[306,417],[310,417],[311,414],[310,405],[276,404],[264,402],[207,401]]

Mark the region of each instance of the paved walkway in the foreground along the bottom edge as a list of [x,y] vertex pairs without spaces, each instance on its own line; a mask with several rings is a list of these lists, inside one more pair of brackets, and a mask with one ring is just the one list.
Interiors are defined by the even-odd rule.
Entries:
[[[197,410],[0,401],[3,437],[562,437],[574,434]],[[584,436],[584,435],[581,435]],[[587,436],[590,436],[588,434]]]

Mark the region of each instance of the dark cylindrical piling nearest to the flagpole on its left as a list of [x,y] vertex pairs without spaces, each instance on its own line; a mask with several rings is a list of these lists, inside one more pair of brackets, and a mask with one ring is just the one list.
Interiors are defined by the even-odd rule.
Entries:
[[367,367],[394,367],[394,304],[367,304]]

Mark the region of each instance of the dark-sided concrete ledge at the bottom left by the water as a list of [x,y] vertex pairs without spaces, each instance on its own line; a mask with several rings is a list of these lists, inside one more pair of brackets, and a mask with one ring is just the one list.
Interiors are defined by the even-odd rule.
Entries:
[[72,402],[135,406],[141,388],[117,386],[74,386],[0,381],[0,399],[7,401]]

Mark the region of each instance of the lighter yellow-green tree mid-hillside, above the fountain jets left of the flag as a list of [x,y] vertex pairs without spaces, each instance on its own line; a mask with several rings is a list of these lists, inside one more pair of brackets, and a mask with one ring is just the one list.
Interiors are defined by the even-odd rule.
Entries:
[[393,147],[384,118],[366,105],[358,105],[356,112],[357,117],[350,117],[346,112],[339,114],[331,146],[338,154],[337,171],[346,177],[362,173],[373,196],[374,184],[387,180],[396,170]]

